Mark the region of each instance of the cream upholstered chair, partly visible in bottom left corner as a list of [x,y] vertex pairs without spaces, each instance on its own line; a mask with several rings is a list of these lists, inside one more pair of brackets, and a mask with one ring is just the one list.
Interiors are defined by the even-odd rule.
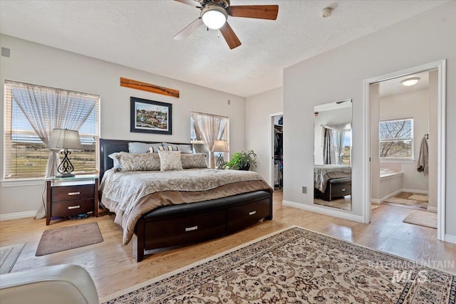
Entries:
[[98,293],[81,266],[46,266],[1,274],[0,303],[98,304]]

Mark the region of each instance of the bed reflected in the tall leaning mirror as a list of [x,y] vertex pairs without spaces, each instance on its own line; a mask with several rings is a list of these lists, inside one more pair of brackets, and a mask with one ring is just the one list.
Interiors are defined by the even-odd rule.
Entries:
[[314,196],[324,201],[351,195],[351,166],[345,164],[314,165]]

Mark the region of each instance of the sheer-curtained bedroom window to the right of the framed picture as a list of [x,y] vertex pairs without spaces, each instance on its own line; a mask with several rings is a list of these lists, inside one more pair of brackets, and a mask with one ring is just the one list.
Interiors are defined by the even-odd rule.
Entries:
[[[203,112],[191,112],[190,117],[190,140],[193,150],[197,153],[206,153],[206,161],[211,165],[211,150],[215,140],[228,140],[229,118],[222,115],[214,115]],[[221,153],[224,157],[224,153]],[[217,152],[218,156],[218,152]]]

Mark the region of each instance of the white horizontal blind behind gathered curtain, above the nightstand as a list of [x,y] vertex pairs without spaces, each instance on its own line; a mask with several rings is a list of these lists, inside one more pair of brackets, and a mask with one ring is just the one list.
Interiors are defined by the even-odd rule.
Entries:
[[[47,98],[46,94],[41,96],[33,95],[26,91],[25,85],[13,81],[5,81],[5,125],[4,125],[4,178],[29,178],[44,177],[46,164],[48,162],[49,150],[41,138],[33,129],[31,123],[24,112],[14,100],[13,94],[21,98]],[[48,88],[41,85],[33,85],[33,88],[52,93],[53,95],[70,98],[72,105],[76,103],[75,108],[79,115],[81,113],[88,115],[87,120],[81,126],[79,135],[83,151],[71,151],[70,159],[74,165],[74,173],[93,173],[98,171],[98,139],[99,139],[99,104],[100,97],[86,93],[79,93],[71,90],[62,90],[58,88]],[[51,95],[52,95],[51,94]],[[95,107],[88,107],[88,101]],[[51,103],[53,104],[53,103]],[[58,105],[58,103],[56,103]],[[48,103],[43,103],[38,110],[42,111],[46,122],[50,125],[56,125],[61,117],[56,113],[57,107],[50,107]],[[68,112],[68,115],[75,115]],[[61,157],[62,158],[62,157]]]

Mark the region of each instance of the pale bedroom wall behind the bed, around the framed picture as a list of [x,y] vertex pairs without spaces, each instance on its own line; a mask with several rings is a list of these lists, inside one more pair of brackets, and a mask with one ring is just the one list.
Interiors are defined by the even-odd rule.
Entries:
[[[245,98],[11,36],[1,35],[0,41],[1,47],[11,50],[10,58],[0,57],[1,92],[4,91],[4,80],[16,80],[98,94],[101,98],[100,137],[102,138],[190,142],[190,111],[197,110],[229,116],[230,150],[244,150]],[[128,56],[134,56],[134,53]],[[120,87],[120,77],[180,90],[180,98]],[[172,135],[130,132],[130,96],[172,103]],[[1,94],[1,154],[3,154],[3,98]],[[230,100],[229,105],[228,100]],[[3,172],[1,166],[3,162],[0,162],[0,171]],[[5,187],[6,183],[1,184],[0,215],[33,211],[38,208],[43,190],[41,184],[31,187]]]

